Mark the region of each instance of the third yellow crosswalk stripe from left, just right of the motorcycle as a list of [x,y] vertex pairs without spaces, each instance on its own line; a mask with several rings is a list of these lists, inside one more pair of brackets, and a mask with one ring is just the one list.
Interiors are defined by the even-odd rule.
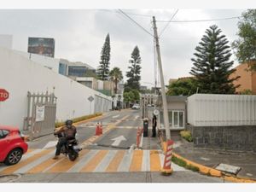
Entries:
[[108,150],[99,151],[88,163],[85,165],[80,172],[92,172],[96,166],[102,161],[105,155],[108,154]]

